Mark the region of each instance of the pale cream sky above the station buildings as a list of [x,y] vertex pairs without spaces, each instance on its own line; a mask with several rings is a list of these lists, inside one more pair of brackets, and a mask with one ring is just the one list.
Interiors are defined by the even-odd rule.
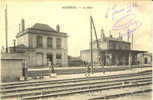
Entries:
[[[68,33],[69,36],[68,54],[79,56],[80,50],[89,48],[90,16],[92,16],[98,38],[103,28],[106,36],[111,33],[113,37],[118,37],[120,33],[126,40],[127,30],[130,29],[134,36],[133,49],[152,52],[151,0],[37,0],[37,2],[35,0],[1,0],[1,46],[5,46],[6,2],[9,46],[13,45],[13,39],[19,32],[19,23],[24,18],[25,28],[35,23],[43,23],[56,29],[56,25],[59,24],[60,31]],[[95,39],[94,34],[93,38]]]

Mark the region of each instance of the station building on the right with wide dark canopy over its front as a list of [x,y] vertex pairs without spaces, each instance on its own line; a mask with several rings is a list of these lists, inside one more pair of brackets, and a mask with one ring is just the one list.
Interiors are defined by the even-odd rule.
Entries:
[[[137,54],[145,51],[131,50],[131,43],[123,41],[122,37],[114,38],[112,35],[106,37],[102,30],[101,38],[93,41],[93,63],[102,65],[128,65],[137,64]],[[81,60],[90,62],[90,49],[80,51]]]

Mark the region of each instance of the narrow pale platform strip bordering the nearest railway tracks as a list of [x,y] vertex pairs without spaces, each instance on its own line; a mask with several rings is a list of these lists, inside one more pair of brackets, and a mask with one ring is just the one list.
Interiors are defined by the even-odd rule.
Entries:
[[81,73],[81,74],[69,74],[69,75],[54,75],[54,76],[46,76],[43,79],[28,79],[27,81],[15,81],[15,82],[7,82],[7,83],[1,83],[1,85],[9,85],[9,84],[22,84],[22,83],[28,83],[28,82],[42,82],[42,81],[51,81],[51,80],[64,80],[64,79],[73,79],[73,78],[87,78],[87,77],[96,77],[96,76],[109,76],[109,75],[119,75],[119,74],[130,74],[130,73],[137,73],[141,71],[148,71],[152,70],[152,67],[143,67],[143,68],[134,68],[129,70],[121,70],[121,71],[110,71],[110,72],[96,72],[93,74],[86,75],[87,73]]

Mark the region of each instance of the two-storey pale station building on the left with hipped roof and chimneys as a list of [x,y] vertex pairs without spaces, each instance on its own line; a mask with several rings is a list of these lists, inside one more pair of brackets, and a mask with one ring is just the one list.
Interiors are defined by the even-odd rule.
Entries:
[[47,65],[50,60],[57,66],[68,65],[67,33],[54,30],[46,24],[36,23],[31,28],[24,28],[21,21],[19,33],[16,35],[17,46],[10,47],[10,52],[27,54],[29,66]]

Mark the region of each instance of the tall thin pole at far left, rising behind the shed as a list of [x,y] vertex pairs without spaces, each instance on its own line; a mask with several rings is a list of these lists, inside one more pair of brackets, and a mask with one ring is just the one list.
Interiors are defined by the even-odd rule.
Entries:
[[6,42],[6,53],[8,53],[8,41],[7,41],[7,35],[8,35],[8,22],[7,22],[7,4],[5,8],[5,42]]

